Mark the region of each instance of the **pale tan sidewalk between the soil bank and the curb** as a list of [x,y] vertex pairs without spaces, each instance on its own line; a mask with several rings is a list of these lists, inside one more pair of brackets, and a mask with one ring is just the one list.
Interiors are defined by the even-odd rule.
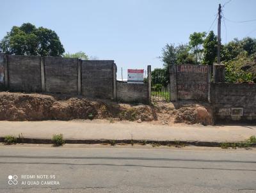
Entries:
[[147,140],[239,142],[256,135],[256,126],[153,125],[107,120],[0,121],[0,137],[22,134],[24,138],[51,139],[63,134],[71,140]]

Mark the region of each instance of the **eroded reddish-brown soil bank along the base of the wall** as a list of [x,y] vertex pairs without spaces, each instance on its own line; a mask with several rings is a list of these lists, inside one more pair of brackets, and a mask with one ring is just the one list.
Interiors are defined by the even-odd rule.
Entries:
[[153,121],[161,124],[212,125],[211,107],[193,101],[152,105],[120,104],[83,96],[0,92],[0,120],[40,121],[74,119]]

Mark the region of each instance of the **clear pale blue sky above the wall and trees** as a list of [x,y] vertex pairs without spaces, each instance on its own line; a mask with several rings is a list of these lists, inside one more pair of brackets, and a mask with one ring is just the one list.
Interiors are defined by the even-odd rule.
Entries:
[[[194,31],[208,31],[218,3],[228,0],[1,0],[0,38],[12,26],[31,22],[60,36],[66,52],[84,51],[114,59],[120,68],[161,67],[166,43],[187,43]],[[255,0],[232,0],[223,13],[230,20],[256,19]],[[256,36],[256,22],[222,25],[222,42]],[[212,26],[216,32],[216,26]],[[126,73],[124,75],[126,78]]]

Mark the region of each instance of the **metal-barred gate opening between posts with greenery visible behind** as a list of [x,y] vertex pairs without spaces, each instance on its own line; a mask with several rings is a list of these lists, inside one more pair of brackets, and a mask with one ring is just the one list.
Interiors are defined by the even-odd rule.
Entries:
[[151,100],[154,102],[170,102],[169,70],[156,68],[151,73]]

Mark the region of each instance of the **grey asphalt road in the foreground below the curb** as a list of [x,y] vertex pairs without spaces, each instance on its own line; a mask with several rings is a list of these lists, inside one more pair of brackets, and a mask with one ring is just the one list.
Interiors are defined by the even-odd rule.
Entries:
[[256,192],[255,149],[1,145],[0,171],[0,192]]

